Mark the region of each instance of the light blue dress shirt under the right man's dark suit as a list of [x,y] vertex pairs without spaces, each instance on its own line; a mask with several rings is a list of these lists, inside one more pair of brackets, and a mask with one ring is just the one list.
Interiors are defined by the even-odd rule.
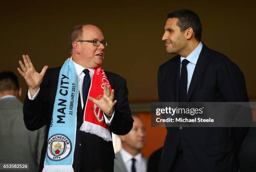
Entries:
[[[189,63],[187,64],[187,92],[189,89],[189,85],[195,70],[195,66],[197,65],[197,60],[200,55],[200,52],[202,50],[202,42],[199,43],[199,45],[196,47],[194,51],[192,51],[187,58],[180,56],[180,70],[182,67],[182,60],[187,59]],[[181,72],[181,71],[180,71]],[[180,73],[179,73],[180,76]]]

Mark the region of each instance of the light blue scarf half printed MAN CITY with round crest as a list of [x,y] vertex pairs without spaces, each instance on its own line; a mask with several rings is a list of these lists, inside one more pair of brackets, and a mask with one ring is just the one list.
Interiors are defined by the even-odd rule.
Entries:
[[72,57],[61,67],[43,172],[74,172],[78,76]]

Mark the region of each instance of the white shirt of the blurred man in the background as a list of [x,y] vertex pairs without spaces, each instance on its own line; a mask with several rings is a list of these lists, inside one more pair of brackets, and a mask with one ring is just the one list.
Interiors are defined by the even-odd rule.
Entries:
[[123,159],[123,162],[125,164],[125,167],[127,169],[127,172],[131,172],[131,166],[132,166],[132,158],[136,159],[135,161],[135,168],[136,172],[146,172],[146,160],[142,158],[142,154],[139,153],[135,157],[133,157],[131,154],[126,152],[123,148],[120,150],[121,157]]

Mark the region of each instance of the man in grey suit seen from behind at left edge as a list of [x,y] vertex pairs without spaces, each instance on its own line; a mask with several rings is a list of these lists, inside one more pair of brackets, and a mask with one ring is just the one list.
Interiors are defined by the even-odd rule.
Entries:
[[18,97],[21,87],[13,72],[0,72],[0,162],[28,163],[31,172],[38,171],[44,130],[28,131],[23,122]]

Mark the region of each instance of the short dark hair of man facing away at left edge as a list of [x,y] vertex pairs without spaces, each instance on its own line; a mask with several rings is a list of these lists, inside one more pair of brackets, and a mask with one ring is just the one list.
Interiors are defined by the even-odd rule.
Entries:
[[18,90],[19,88],[18,77],[13,72],[0,72],[0,92]]

